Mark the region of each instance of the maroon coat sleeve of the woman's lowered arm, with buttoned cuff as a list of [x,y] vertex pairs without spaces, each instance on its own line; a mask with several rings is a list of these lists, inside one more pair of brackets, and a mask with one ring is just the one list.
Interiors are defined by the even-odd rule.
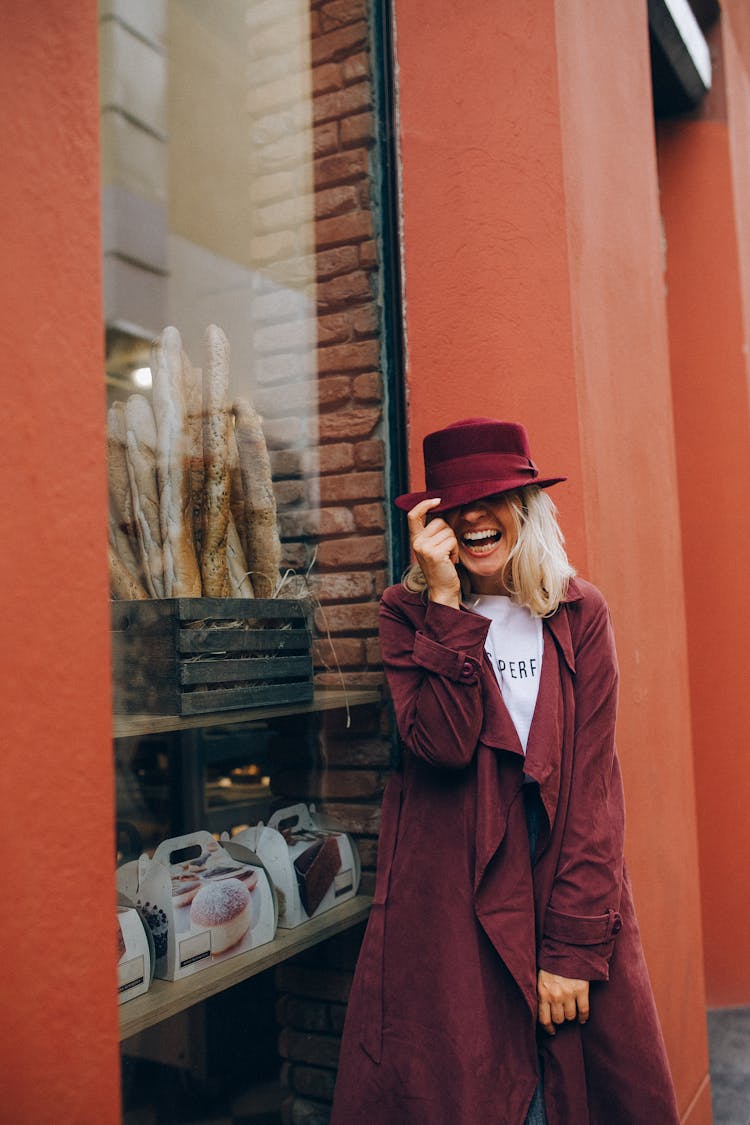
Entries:
[[624,799],[615,752],[617,658],[600,595],[575,658],[570,800],[539,965],[561,976],[607,980],[622,926]]

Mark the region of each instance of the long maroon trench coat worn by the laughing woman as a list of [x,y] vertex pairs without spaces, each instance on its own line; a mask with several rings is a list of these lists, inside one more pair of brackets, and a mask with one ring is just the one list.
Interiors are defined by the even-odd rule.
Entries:
[[[540,1063],[549,1125],[676,1125],[623,867],[602,595],[571,582],[544,621],[525,759],[486,619],[391,586],[380,626],[405,754],[383,796],[332,1125],[523,1125]],[[524,771],[546,813],[533,867]],[[593,982],[585,1026],[537,1028],[537,968]]]

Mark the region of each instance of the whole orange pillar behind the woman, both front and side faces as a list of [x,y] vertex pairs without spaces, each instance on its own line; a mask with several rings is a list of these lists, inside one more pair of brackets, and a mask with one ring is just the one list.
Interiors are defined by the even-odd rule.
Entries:
[[542,469],[571,477],[554,498],[618,638],[644,946],[684,1119],[707,1123],[647,14],[554,9],[396,4],[412,476],[425,432],[487,413],[524,420]]

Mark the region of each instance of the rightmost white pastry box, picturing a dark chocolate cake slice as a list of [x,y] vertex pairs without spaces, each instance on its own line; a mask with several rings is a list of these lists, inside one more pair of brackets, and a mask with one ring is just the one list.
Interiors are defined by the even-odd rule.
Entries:
[[356,844],[314,806],[293,804],[274,812],[268,825],[234,837],[252,848],[273,880],[279,926],[292,928],[354,898],[360,885]]

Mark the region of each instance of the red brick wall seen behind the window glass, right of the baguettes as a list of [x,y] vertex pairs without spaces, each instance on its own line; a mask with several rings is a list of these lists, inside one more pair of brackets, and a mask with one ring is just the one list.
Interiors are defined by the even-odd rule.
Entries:
[[[260,135],[268,143],[256,153],[255,189],[268,202],[259,208],[257,244],[273,255],[273,276],[253,307],[256,402],[271,448],[284,562],[298,575],[308,572],[315,601],[316,682],[380,691],[377,602],[388,580],[388,550],[369,3],[310,2],[314,174],[311,198],[301,201],[296,165],[304,144],[295,145],[284,127],[304,127],[304,83],[288,72],[274,76],[281,71],[274,54],[288,66],[290,45],[289,25],[282,15],[272,19],[273,10],[260,4],[255,28],[275,104],[269,110],[268,93],[259,90]],[[311,254],[315,284],[308,286]],[[290,279],[291,295],[280,285]],[[373,702],[322,712],[310,727],[310,756],[287,746],[273,792],[314,800],[355,835],[362,890],[371,893],[391,766],[387,711]],[[277,971],[287,1123],[328,1119],[361,936],[361,928],[343,934]]]

